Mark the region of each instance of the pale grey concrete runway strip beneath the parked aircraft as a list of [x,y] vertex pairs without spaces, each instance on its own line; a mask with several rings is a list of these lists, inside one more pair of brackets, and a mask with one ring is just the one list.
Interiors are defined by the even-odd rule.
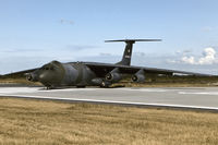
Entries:
[[218,111],[218,87],[65,88],[0,87],[0,96]]

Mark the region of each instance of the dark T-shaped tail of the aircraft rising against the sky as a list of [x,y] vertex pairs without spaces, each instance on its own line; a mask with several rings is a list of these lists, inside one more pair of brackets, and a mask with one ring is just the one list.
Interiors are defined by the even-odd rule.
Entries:
[[119,40],[106,40],[105,43],[117,43],[117,41],[124,41],[126,44],[122,60],[117,64],[130,65],[133,44],[135,44],[135,41],[161,41],[161,39],[119,39]]

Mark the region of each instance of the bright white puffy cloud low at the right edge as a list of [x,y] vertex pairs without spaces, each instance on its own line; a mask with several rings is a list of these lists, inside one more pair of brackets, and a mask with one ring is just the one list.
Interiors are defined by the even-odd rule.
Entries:
[[201,58],[195,58],[194,56],[183,56],[181,58],[181,62],[187,64],[215,64],[218,62],[218,58],[216,57],[216,50],[211,47],[205,48],[203,51],[203,56]]

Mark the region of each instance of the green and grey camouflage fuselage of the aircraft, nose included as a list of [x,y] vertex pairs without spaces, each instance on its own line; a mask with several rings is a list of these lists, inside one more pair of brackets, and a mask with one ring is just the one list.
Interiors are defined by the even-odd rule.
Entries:
[[47,87],[99,85],[92,80],[96,74],[82,62],[60,63],[52,61],[27,74],[27,80],[40,82]]

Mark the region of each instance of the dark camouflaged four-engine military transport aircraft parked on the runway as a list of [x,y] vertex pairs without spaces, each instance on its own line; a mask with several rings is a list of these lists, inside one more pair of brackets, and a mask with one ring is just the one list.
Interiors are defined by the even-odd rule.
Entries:
[[124,74],[132,75],[132,81],[136,83],[145,82],[147,74],[153,75],[173,75],[174,73],[196,76],[209,76],[194,72],[165,70],[157,68],[134,67],[131,65],[132,48],[135,41],[160,41],[161,39],[120,39],[106,40],[106,43],[124,41],[125,50],[122,60],[118,63],[98,63],[98,62],[68,62],[51,61],[41,68],[15,72],[23,73],[32,82],[40,82],[47,88],[59,86],[101,86],[108,87],[112,83],[122,80]]

